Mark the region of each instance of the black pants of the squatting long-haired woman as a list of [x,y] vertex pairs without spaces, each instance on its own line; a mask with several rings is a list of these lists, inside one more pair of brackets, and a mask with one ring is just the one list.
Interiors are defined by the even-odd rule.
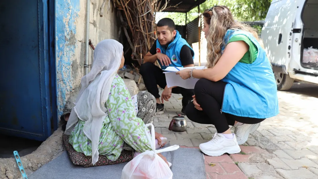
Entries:
[[197,110],[191,102],[186,107],[187,117],[200,124],[213,124],[218,133],[223,133],[233,126],[235,121],[245,124],[257,124],[265,119],[240,117],[228,113],[221,113],[223,94],[226,83],[199,79],[194,87],[197,103],[203,109]]

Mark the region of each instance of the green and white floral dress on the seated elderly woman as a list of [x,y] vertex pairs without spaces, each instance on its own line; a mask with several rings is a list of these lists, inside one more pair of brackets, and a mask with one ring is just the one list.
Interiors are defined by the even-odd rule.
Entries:
[[[108,100],[105,103],[108,116],[103,121],[100,131],[99,155],[106,155],[115,161],[121,154],[124,142],[137,152],[150,149],[145,132],[145,123],[136,116],[134,103],[128,89],[117,74],[112,82]],[[91,140],[83,132],[85,121],[79,120],[71,132],[69,142],[77,152],[92,155]]]

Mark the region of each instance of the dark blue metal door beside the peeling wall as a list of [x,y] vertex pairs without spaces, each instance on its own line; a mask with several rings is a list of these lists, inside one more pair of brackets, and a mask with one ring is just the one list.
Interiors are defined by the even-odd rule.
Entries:
[[2,134],[43,141],[52,134],[51,126],[56,126],[53,121],[56,109],[52,109],[56,97],[51,91],[55,84],[50,82],[48,3],[47,0],[0,1]]

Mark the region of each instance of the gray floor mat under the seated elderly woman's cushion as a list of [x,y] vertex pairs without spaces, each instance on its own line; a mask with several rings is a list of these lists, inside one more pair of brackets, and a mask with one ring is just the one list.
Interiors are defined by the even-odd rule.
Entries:
[[[204,157],[197,148],[162,153],[172,163],[173,179],[206,179]],[[66,151],[33,172],[29,179],[119,179],[126,163],[84,168],[74,165]]]

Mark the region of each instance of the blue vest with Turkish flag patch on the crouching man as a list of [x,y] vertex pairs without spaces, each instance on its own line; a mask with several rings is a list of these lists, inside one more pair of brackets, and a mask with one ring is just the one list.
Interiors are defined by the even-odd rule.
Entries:
[[[190,45],[187,43],[187,41],[181,37],[179,31],[177,31],[175,39],[168,45],[167,48],[165,46],[160,45],[160,43],[157,39],[156,40],[156,51],[157,51],[157,53],[166,54],[169,57],[169,59],[172,63],[169,66],[183,67],[181,64],[181,60],[180,60],[180,51],[181,51],[181,48],[183,45],[187,45],[191,49],[191,51],[193,53],[193,56],[192,56],[192,59],[193,59],[194,58],[194,51],[190,47]],[[168,67],[165,65],[162,66],[159,59],[158,59],[158,62],[160,64],[162,70],[164,70]]]

